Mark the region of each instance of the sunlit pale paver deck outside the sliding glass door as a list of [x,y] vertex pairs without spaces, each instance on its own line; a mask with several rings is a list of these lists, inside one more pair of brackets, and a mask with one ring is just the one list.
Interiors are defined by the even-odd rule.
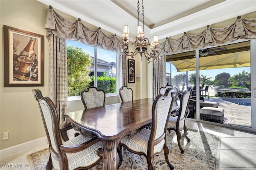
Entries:
[[252,127],[251,107],[238,105],[229,101],[222,100],[218,97],[208,97],[204,101],[219,103],[219,108],[224,109],[223,124],[237,127]]

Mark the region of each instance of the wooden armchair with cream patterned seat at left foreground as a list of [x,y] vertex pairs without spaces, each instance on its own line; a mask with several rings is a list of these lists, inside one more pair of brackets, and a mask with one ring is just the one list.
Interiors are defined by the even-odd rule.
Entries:
[[43,97],[39,89],[33,89],[32,93],[38,102],[49,141],[50,157],[46,170],[89,169],[95,166],[101,160],[98,148],[103,147],[102,142],[98,138],[89,138],[82,134],[62,142],[60,133],[66,129],[59,127],[53,101],[49,97]]

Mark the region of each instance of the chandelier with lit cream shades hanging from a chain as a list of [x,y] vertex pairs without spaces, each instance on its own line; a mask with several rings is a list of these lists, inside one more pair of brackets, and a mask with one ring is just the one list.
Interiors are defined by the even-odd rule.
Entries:
[[[142,23],[143,23],[143,28],[141,25],[139,25],[139,14],[140,14],[140,0],[138,0],[138,31],[137,31],[137,37],[134,38],[132,45],[135,44],[135,51],[129,51],[128,48],[128,42],[129,40],[129,27],[128,25],[124,26],[124,30],[122,32],[122,37],[123,37],[123,44],[122,44],[122,53],[124,53],[124,55],[127,56],[131,56],[132,59],[134,59],[134,55],[136,55],[137,53],[140,53],[140,59],[142,61],[142,55],[144,55],[146,57],[146,59],[148,60],[148,63],[154,61],[157,57],[159,57],[160,53],[159,51],[156,49],[157,45],[159,44],[158,42],[158,37],[154,36],[153,40],[151,41],[151,44],[149,43],[148,38],[145,38],[145,34],[144,34],[144,5],[143,5],[143,0],[142,0]],[[151,51],[150,53],[148,53],[147,49],[148,47],[150,47]]]

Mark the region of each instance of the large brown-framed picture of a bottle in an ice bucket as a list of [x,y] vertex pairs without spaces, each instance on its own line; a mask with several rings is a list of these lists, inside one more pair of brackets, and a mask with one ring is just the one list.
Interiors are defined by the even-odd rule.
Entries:
[[4,25],[4,87],[44,86],[44,36]]

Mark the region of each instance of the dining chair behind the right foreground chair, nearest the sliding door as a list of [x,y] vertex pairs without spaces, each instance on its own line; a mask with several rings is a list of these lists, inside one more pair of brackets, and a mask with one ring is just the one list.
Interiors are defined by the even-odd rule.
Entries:
[[178,114],[178,117],[170,117],[169,121],[168,121],[168,127],[167,130],[169,131],[169,133],[171,132],[171,130],[175,130],[176,135],[177,135],[177,140],[178,140],[178,146],[180,148],[181,153],[184,153],[184,149],[182,148],[181,144],[180,144],[180,140],[181,140],[181,133],[180,130],[184,130],[184,135],[186,137],[186,139],[188,140],[188,142],[190,142],[190,139],[187,136],[187,128],[185,125],[185,119],[189,114],[189,109],[188,109],[188,103],[189,103],[189,98],[192,94],[193,91],[193,87],[189,87],[188,90],[185,90],[182,92],[182,96],[180,99],[180,111]]

